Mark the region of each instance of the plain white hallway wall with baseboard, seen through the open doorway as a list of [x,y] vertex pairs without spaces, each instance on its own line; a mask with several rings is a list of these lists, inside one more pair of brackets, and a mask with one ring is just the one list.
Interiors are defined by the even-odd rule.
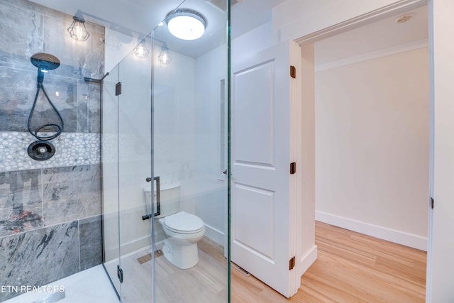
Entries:
[[428,49],[316,72],[316,218],[426,250]]

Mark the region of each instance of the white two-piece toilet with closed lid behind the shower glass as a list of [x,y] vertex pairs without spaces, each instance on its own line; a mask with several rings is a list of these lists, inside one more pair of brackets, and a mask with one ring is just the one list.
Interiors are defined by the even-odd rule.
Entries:
[[[177,268],[187,269],[199,263],[197,242],[203,238],[205,226],[198,216],[179,211],[179,187],[179,183],[161,184],[160,215],[155,218],[167,236],[162,248],[165,258]],[[151,189],[143,190],[150,205]]]

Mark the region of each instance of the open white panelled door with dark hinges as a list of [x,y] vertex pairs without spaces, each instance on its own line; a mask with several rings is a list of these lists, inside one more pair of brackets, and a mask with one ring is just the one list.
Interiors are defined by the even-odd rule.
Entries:
[[232,63],[232,261],[286,297],[299,288],[297,216],[291,194],[290,53],[281,43]]

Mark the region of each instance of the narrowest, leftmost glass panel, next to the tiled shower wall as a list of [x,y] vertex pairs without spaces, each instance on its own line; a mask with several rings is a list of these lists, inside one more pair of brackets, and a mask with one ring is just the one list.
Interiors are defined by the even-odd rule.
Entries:
[[118,66],[102,82],[102,202],[103,202],[103,262],[116,292],[121,293],[117,278],[120,240],[118,222]]

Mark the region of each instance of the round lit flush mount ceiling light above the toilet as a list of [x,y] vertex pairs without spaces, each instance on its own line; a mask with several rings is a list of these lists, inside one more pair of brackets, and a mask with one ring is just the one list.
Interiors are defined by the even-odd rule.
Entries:
[[182,40],[195,40],[204,35],[206,20],[192,9],[177,9],[165,18],[170,33]]

